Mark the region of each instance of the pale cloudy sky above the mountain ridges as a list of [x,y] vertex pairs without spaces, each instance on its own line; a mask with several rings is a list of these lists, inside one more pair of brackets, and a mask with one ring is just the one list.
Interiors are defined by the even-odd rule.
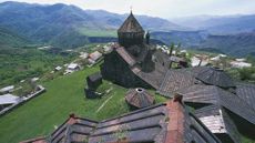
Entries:
[[[4,2],[6,0],[0,0]],[[161,18],[232,16],[255,13],[255,0],[16,0],[29,3],[67,3],[82,9],[106,10]]]

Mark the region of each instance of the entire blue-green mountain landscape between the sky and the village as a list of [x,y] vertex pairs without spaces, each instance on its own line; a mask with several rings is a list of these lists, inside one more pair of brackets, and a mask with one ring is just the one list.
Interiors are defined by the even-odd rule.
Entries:
[[[51,44],[70,49],[94,42],[111,42],[115,41],[116,29],[126,17],[65,4],[3,2],[0,9],[0,37],[8,35],[1,39],[0,47]],[[13,9],[19,11],[11,12]],[[255,27],[252,23],[255,16],[197,17],[173,19],[174,22],[147,16],[137,16],[137,19],[153,39],[164,44],[174,42],[186,49],[215,49],[234,57],[254,53]],[[243,48],[246,50],[241,50]]]

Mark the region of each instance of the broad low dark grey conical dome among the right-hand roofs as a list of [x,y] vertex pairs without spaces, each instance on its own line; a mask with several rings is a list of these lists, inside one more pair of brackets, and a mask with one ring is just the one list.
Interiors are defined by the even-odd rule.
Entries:
[[235,86],[232,78],[226,74],[223,70],[217,68],[206,68],[198,72],[196,79],[210,85],[217,85],[221,88],[233,88]]

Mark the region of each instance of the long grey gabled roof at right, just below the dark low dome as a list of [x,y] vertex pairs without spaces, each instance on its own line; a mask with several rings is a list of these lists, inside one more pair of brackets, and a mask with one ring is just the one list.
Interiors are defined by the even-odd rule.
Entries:
[[249,123],[255,124],[255,110],[236,94],[222,90],[218,86],[195,84],[177,93],[183,95],[184,102],[221,105]]

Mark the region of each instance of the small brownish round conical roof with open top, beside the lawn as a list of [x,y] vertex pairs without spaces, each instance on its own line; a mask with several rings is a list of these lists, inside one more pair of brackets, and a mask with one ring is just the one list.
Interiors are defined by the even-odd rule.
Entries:
[[135,108],[146,108],[154,103],[154,98],[144,89],[137,88],[128,91],[125,101]]

